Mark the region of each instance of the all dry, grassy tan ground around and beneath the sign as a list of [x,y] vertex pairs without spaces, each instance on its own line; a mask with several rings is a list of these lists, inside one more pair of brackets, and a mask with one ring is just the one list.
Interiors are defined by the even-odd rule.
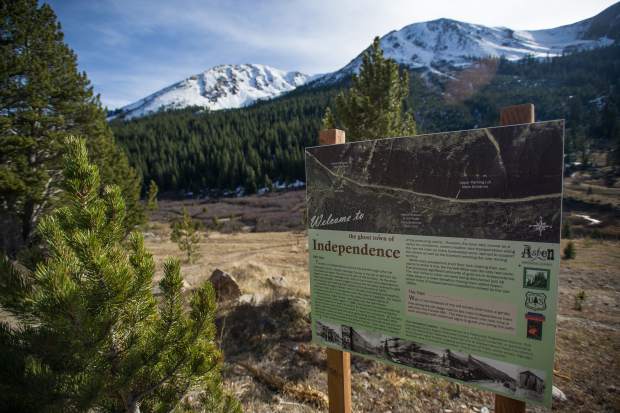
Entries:
[[[248,230],[246,228],[246,230]],[[169,226],[152,223],[147,247],[161,264],[182,254]],[[576,239],[576,258],[563,260],[554,384],[567,397],[558,412],[620,411],[620,242]],[[220,268],[233,274],[252,304],[224,306],[218,328],[228,389],[247,412],[326,411],[325,351],[310,343],[306,237],[300,231],[211,231],[201,256],[183,264],[188,288]],[[158,265],[158,276],[161,265]],[[271,276],[283,276],[274,291]],[[576,309],[576,297],[585,298]],[[415,371],[352,357],[355,412],[493,411],[493,395]],[[282,383],[286,383],[283,385]],[[288,386],[288,387],[287,387]],[[322,394],[323,393],[323,394]],[[542,412],[542,408],[528,411]]]

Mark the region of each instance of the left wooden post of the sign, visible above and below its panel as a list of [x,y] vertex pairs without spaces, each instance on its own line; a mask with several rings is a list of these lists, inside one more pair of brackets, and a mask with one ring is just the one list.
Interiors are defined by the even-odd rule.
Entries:
[[[319,145],[345,143],[343,130],[325,129],[319,133]],[[327,349],[327,395],[329,413],[351,413],[351,354]]]

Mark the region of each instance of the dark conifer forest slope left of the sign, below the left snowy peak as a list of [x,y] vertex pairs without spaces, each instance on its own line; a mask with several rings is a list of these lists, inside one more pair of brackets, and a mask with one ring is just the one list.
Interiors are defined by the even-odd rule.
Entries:
[[251,108],[199,108],[113,121],[119,142],[146,182],[162,192],[205,188],[248,192],[269,181],[303,179],[303,150],[316,145],[335,89],[295,93]]

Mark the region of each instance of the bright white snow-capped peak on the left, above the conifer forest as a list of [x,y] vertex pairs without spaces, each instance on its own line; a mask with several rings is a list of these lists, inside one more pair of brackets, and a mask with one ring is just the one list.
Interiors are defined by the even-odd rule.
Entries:
[[219,65],[190,76],[114,112],[109,119],[131,119],[167,109],[200,106],[210,110],[239,108],[271,99],[310,78],[258,64]]

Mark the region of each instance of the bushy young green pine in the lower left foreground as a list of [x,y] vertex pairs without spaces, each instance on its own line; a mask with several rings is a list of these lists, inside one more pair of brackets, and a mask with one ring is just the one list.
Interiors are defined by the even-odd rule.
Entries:
[[179,262],[155,264],[142,236],[126,240],[125,203],[100,188],[83,140],[67,140],[66,205],[39,224],[46,258],[34,272],[0,259],[0,411],[169,412],[190,390],[207,411],[238,411],[222,393],[215,297],[206,282],[184,310]]

